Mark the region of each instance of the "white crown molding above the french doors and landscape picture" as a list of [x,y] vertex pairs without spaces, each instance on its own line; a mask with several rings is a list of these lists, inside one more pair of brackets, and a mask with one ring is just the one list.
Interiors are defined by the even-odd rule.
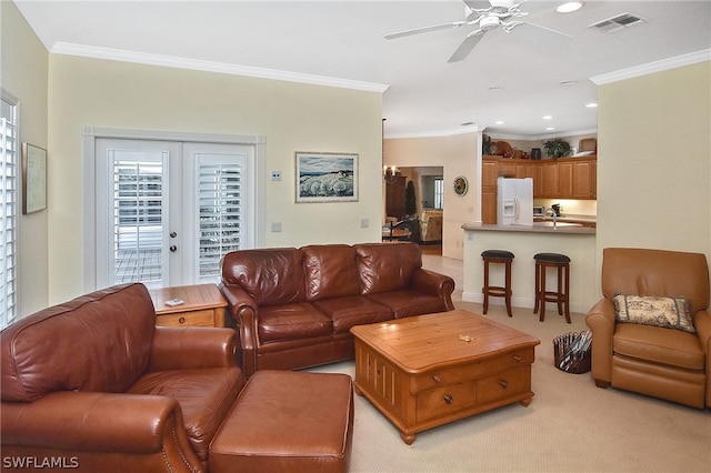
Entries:
[[93,59],[107,59],[110,61],[133,62],[149,66],[161,66],[166,68],[189,69],[194,71],[218,72],[231,76],[246,76],[259,79],[308,83],[312,85],[362,90],[365,92],[383,93],[390,87],[388,84],[377,82],[338,79],[326,76],[303,74],[299,72],[279,71],[276,69],[254,68],[249,66],[229,64],[226,62],[216,61],[202,61],[197,59],[178,58],[173,56],[149,54],[144,52],[98,48],[66,42],[54,43],[54,46],[52,46],[52,48],[50,49],[50,53],[78,56],[82,58]]

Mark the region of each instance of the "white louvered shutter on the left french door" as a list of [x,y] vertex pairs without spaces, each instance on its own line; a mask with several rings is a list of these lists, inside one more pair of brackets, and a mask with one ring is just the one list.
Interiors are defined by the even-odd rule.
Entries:
[[113,283],[163,281],[163,153],[113,153]]

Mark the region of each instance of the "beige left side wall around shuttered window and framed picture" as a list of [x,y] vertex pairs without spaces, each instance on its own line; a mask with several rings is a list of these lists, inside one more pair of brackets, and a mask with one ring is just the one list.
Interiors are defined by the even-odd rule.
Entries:
[[[48,149],[47,81],[49,53],[13,2],[0,2],[2,18],[2,88],[20,101],[20,141]],[[48,161],[54,159],[48,149]],[[21,201],[20,201],[21,202]],[[18,314],[48,303],[48,215],[50,210],[18,218]],[[21,208],[20,208],[21,209]]]

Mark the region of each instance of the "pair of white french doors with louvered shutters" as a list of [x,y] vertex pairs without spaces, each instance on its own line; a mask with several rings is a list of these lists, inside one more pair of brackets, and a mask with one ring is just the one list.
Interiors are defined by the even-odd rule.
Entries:
[[221,258],[254,245],[254,151],[97,139],[97,286],[219,282]]

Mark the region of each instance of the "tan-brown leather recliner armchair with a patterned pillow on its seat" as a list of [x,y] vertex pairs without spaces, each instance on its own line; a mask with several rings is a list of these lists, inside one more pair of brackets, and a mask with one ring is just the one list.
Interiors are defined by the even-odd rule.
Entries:
[[[603,250],[604,298],[588,313],[592,376],[613,388],[703,409],[711,406],[711,315],[705,255],[664,250]],[[618,323],[615,294],[685,298],[695,333]]]

